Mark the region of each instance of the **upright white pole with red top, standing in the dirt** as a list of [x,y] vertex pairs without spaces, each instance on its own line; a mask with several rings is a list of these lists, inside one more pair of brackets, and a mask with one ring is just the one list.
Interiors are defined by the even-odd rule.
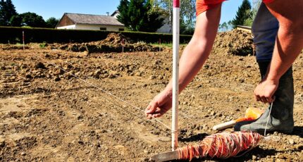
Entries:
[[180,0],[173,0],[173,108],[172,108],[172,150],[178,148],[178,94],[179,94],[179,35]]

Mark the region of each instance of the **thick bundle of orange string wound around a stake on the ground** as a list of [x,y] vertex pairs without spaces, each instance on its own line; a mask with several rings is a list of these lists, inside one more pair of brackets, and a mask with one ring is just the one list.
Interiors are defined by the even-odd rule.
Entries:
[[249,151],[256,147],[261,138],[262,136],[259,133],[251,131],[221,132],[209,135],[199,145],[178,149],[179,159],[235,157],[242,151]]

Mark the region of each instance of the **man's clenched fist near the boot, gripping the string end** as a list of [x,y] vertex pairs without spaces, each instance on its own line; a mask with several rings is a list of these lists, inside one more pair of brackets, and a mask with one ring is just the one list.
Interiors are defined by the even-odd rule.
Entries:
[[254,89],[256,101],[262,101],[264,104],[273,102],[273,94],[278,89],[279,81],[262,80]]

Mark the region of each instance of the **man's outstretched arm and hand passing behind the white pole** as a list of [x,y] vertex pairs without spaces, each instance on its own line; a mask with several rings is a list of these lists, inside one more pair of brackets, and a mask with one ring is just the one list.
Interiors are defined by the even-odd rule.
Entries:
[[[180,92],[192,81],[208,58],[216,38],[221,4],[197,16],[196,28],[179,62]],[[171,108],[172,82],[149,103],[147,118],[157,118]]]

